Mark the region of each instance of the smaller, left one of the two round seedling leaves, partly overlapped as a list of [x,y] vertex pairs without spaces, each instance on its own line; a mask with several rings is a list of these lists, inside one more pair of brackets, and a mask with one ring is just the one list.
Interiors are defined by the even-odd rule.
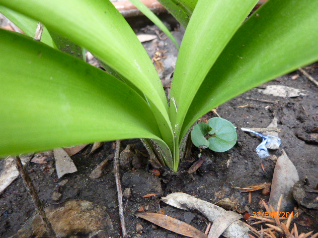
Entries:
[[204,137],[212,128],[205,122],[196,124],[191,131],[192,143],[201,149],[209,147],[209,141]]

